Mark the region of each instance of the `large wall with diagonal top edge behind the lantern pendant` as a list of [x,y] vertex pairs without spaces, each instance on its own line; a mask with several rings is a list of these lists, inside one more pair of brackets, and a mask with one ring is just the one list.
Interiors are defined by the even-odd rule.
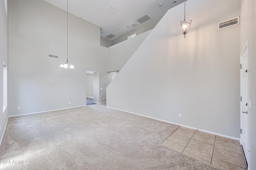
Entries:
[[240,0],[187,1],[186,39],[183,14],[184,3],[159,21],[108,86],[107,106],[239,138],[240,25],[217,25],[240,15]]

